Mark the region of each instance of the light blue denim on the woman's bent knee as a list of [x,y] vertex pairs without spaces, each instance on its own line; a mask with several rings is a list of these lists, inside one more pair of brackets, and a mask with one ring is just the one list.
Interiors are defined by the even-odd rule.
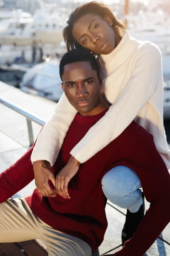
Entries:
[[143,203],[141,181],[135,171],[126,166],[116,166],[102,178],[103,192],[113,204],[130,212],[137,212]]

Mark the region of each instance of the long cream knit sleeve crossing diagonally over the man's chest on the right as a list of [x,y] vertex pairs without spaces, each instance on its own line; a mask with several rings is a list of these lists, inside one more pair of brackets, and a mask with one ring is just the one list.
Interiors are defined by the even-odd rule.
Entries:
[[[132,76],[116,101],[70,154],[84,163],[116,139],[154,94],[158,84],[163,88],[161,53],[156,45],[148,43],[137,56]],[[108,93],[113,94],[114,90]]]

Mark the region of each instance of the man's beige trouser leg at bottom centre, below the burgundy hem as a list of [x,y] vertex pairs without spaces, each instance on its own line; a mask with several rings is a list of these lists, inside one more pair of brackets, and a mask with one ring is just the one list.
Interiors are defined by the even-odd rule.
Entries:
[[40,222],[40,235],[48,247],[49,256],[91,256],[91,247],[85,241]]

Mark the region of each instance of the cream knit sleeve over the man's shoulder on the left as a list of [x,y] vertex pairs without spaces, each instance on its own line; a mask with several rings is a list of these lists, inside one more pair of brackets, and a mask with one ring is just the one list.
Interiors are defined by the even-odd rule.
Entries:
[[57,103],[51,119],[44,125],[31,154],[31,162],[47,160],[54,165],[65,135],[77,111],[68,102],[65,93]]

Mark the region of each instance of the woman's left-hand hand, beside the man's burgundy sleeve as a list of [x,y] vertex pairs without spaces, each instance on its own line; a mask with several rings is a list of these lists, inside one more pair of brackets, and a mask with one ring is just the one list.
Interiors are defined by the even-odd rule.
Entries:
[[54,173],[50,171],[49,163],[44,160],[35,161],[33,163],[35,185],[38,192],[47,197],[55,197],[57,191],[55,189],[56,179]]

